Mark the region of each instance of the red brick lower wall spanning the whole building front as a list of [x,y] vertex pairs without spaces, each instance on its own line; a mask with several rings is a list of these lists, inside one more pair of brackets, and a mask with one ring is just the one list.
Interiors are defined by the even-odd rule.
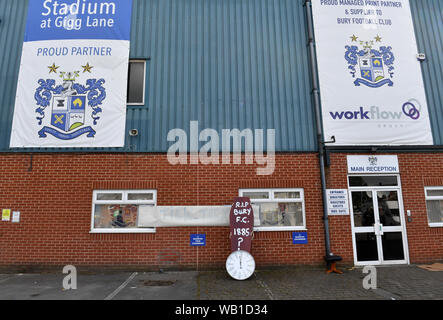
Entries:
[[[400,154],[410,260],[443,259],[443,228],[427,224],[424,186],[443,186],[443,154]],[[91,234],[94,189],[156,189],[158,205],[227,205],[240,188],[304,188],[308,244],[292,232],[258,232],[258,266],[322,264],[323,209],[315,153],[276,155],[272,176],[257,165],[170,165],[164,154],[4,154],[0,156],[2,209],[21,212],[20,223],[0,222],[0,265],[220,267],[229,255],[228,227],[157,228],[154,234]],[[244,162],[243,162],[244,163]],[[417,170],[419,168],[419,170]],[[328,187],[347,188],[346,155],[332,154]],[[332,251],[353,263],[349,216],[331,217]],[[191,247],[191,233],[206,233]]]

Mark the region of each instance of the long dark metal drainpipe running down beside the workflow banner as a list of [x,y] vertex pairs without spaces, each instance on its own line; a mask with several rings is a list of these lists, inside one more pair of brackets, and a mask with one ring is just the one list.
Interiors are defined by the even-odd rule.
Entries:
[[320,176],[321,176],[321,189],[322,189],[322,199],[323,199],[323,222],[325,225],[325,248],[326,248],[326,256],[331,256],[333,255],[333,253],[331,252],[331,242],[329,239],[329,219],[328,219],[328,209],[327,209],[327,200],[326,200],[324,141],[323,141],[323,132],[322,132],[321,113],[320,113],[320,97],[318,91],[317,64],[315,59],[311,0],[306,0],[305,6],[306,6],[306,15],[308,19],[307,21],[308,45],[309,45],[309,53],[311,59],[312,94],[314,95],[314,108],[315,108],[315,117],[317,124],[318,157],[320,160]]

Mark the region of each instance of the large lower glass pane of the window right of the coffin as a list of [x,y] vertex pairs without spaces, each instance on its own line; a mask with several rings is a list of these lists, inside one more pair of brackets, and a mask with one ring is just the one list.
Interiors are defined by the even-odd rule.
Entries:
[[303,227],[301,202],[260,203],[261,227]]

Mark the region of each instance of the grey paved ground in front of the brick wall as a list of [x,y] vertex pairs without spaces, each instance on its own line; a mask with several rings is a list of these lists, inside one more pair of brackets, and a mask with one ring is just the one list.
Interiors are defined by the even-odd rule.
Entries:
[[257,270],[246,281],[224,270],[79,273],[63,289],[60,273],[1,274],[2,300],[443,300],[443,272],[377,267],[377,289],[363,288],[361,268],[326,274],[316,267]]

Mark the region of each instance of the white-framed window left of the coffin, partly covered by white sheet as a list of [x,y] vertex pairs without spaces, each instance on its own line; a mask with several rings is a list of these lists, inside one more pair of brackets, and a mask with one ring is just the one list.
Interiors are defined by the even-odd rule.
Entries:
[[92,199],[92,233],[155,232],[139,228],[141,206],[155,206],[155,190],[96,190]]

